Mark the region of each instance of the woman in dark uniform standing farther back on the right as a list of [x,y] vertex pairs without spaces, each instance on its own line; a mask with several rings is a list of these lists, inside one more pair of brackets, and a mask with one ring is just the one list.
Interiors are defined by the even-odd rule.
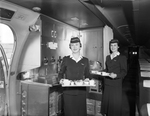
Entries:
[[121,116],[122,81],[127,74],[127,59],[118,51],[119,41],[109,42],[111,54],[106,57],[106,72],[109,76],[104,80],[101,113],[104,116]]

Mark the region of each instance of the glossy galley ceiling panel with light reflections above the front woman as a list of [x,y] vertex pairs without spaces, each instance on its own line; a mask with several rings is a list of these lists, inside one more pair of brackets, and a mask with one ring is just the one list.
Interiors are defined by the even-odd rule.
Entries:
[[33,10],[39,7],[39,13],[52,17],[78,29],[88,29],[104,26],[97,18],[78,0],[6,0]]

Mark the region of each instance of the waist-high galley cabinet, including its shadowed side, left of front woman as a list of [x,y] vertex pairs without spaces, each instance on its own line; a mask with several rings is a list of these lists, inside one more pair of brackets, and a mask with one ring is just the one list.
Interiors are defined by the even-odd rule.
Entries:
[[61,86],[21,82],[22,116],[61,116]]

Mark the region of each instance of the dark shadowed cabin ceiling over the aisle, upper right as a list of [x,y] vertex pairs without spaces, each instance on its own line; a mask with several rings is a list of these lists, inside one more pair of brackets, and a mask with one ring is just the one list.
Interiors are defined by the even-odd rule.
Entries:
[[121,32],[127,41],[150,48],[150,0],[91,1],[104,11],[107,10],[105,15],[109,15],[108,19],[113,27]]

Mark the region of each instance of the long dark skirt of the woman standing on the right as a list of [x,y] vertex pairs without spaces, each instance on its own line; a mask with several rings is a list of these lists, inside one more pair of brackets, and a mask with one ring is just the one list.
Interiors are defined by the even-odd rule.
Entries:
[[101,113],[107,116],[121,116],[122,86],[105,85]]

